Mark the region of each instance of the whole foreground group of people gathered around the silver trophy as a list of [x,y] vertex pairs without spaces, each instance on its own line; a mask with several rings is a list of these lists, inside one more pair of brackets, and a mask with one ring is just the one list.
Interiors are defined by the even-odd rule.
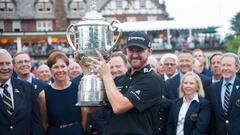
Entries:
[[[31,74],[27,52],[0,49],[0,134],[3,135],[239,135],[239,57],[200,49],[165,54],[160,64],[144,32],[131,33],[125,52],[69,63],[52,52]],[[196,65],[197,63],[197,65]],[[79,82],[101,77],[104,106],[79,107]]]

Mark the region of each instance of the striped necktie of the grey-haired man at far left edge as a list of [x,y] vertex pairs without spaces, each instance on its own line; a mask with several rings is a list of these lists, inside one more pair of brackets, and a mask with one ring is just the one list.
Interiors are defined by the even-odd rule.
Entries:
[[12,98],[10,93],[7,91],[7,84],[2,84],[0,87],[3,88],[3,96],[2,96],[2,101],[3,101],[3,106],[7,113],[12,116],[13,115],[13,106],[12,106]]

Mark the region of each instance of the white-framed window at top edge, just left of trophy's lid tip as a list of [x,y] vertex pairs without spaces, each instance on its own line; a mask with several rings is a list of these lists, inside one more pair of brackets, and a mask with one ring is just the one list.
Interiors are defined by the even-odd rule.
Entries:
[[70,11],[72,12],[85,12],[87,5],[82,0],[72,0],[70,1]]

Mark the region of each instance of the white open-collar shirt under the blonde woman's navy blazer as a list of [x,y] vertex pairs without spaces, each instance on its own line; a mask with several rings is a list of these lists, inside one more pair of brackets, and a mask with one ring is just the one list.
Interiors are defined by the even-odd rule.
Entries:
[[192,101],[199,102],[198,94],[196,93],[191,101],[187,101],[185,97],[183,97],[183,104],[181,106],[181,109],[178,114],[178,123],[177,123],[177,135],[184,135],[184,122],[185,122],[185,116],[187,114],[188,108]]

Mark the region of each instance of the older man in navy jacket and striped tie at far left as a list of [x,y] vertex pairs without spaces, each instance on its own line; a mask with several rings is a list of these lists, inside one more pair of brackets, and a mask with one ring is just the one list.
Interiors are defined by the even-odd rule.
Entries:
[[11,55],[0,49],[0,134],[43,135],[33,85],[11,78]]

